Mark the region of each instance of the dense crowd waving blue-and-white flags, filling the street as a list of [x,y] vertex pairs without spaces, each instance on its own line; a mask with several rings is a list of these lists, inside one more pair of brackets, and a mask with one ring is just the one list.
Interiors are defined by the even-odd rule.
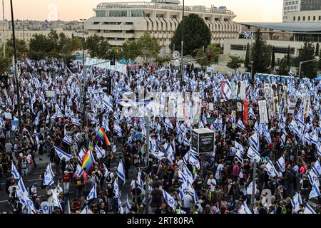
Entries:
[[[77,62],[68,73],[57,60],[26,59],[18,67],[20,98],[9,78],[0,100],[6,213],[321,213],[317,81],[260,81],[190,66],[183,76],[155,65],[128,66],[126,74],[83,71]],[[103,91],[106,76],[111,95]],[[137,99],[142,88],[155,98]],[[84,107],[81,90],[90,100]],[[179,102],[183,93],[191,98]],[[198,128],[213,130],[215,151],[191,150]],[[47,157],[40,185],[27,186],[36,159]]]

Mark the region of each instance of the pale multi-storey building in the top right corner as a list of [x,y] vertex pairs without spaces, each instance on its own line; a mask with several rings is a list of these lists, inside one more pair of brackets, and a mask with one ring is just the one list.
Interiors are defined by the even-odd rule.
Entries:
[[291,22],[291,14],[300,11],[321,10],[321,0],[283,0],[283,22]]

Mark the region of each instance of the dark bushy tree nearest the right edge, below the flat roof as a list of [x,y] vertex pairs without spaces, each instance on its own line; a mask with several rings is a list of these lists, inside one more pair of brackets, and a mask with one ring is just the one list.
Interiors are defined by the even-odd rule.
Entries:
[[[315,46],[312,42],[305,42],[302,50],[299,53],[299,60],[309,61],[315,58]],[[317,63],[315,61],[311,61],[308,63],[304,63],[301,66],[301,77],[307,78],[315,78],[317,76]]]

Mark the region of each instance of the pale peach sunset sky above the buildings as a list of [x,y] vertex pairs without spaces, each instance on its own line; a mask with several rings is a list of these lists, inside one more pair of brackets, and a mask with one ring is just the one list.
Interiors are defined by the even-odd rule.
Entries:
[[[13,0],[14,18],[20,20],[73,21],[94,16],[101,2],[151,0]],[[180,0],[183,2],[183,0]],[[281,22],[282,0],[185,0],[186,6],[226,6],[238,22]],[[11,19],[10,1],[4,0],[5,19]],[[1,13],[0,13],[1,14]],[[1,15],[2,16],[2,15]]]

